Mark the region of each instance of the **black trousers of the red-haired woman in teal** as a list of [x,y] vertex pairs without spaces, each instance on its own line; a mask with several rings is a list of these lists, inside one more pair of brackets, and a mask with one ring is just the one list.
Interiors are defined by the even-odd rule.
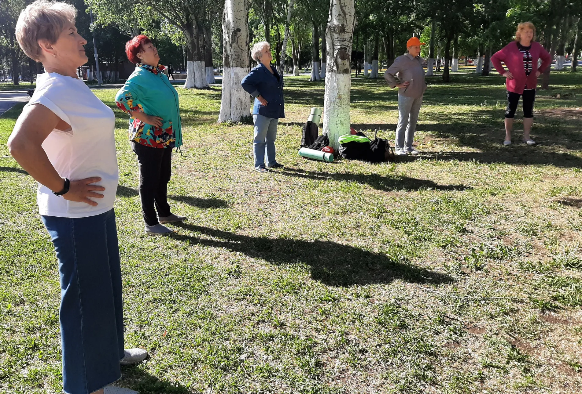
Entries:
[[168,182],[172,175],[172,148],[151,148],[139,142],[131,143],[140,169],[141,213],[146,225],[158,224],[156,211],[160,217],[171,214]]

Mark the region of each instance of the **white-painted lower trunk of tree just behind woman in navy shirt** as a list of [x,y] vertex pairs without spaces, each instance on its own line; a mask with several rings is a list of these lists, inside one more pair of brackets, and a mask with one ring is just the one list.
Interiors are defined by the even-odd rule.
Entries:
[[240,86],[240,81],[249,73],[245,67],[225,67],[222,73],[222,101],[218,123],[240,122],[250,115],[249,94]]

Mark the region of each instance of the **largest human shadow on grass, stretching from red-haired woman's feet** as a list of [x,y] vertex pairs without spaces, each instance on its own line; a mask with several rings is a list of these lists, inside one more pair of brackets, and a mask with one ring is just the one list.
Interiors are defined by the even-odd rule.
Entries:
[[225,248],[281,266],[307,264],[313,280],[330,286],[389,283],[395,279],[435,285],[453,281],[449,275],[415,266],[406,259],[396,259],[338,242],[249,237],[187,223],[176,225],[214,239],[178,233],[171,234],[172,238],[191,244]]

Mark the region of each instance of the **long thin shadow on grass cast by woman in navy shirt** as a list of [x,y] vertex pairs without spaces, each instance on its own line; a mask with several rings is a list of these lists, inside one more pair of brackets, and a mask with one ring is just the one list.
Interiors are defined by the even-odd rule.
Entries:
[[334,181],[349,181],[357,182],[359,184],[370,185],[374,189],[381,191],[416,191],[420,189],[433,189],[439,191],[449,191],[458,190],[463,191],[471,189],[470,186],[466,185],[439,185],[434,181],[410,178],[404,176],[396,177],[386,177],[384,175],[378,174],[340,174],[340,173],[320,173],[320,172],[310,172],[300,169],[293,169],[291,167],[286,167],[285,171],[281,172],[282,175],[288,175],[290,177],[297,178],[308,178],[313,180],[334,180]]

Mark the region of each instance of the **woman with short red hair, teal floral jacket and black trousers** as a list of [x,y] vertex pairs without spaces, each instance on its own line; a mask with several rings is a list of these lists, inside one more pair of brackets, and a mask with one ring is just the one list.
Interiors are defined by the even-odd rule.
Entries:
[[130,115],[129,139],[139,163],[145,232],[169,234],[173,230],[162,223],[186,219],[171,213],[167,198],[172,148],[182,145],[178,92],[162,72],[166,67],[158,64],[158,49],[149,38],[133,37],[127,41],[125,52],[136,69],[117,92],[115,102]]

